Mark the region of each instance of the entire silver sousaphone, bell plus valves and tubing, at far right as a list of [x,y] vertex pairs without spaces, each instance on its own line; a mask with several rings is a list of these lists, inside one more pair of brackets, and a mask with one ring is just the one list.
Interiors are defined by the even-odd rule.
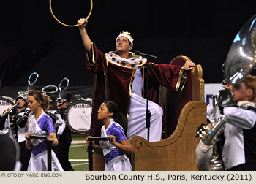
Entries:
[[[253,15],[240,29],[227,54],[222,71],[225,83],[235,85],[256,68],[256,15]],[[217,99],[218,100],[218,99]],[[215,106],[214,108],[216,108]],[[243,107],[243,106],[241,106]],[[246,107],[246,105],[244,106]],[[215,112],[214,112],[215,113]],[[214,115],[215,118],[215,115]],[[222,115],[218,120],[211,122],[211,127],[202,126],[197,132],[200,142],[196,148],[197,167],[200,170],[221,170],[223,166],[217,161],[218,155],[214,153],[214,146],[219,141],[219,134],[225,129],[226,118]],[[218,151],[218,150],[217,150]],[[207,154],[206,154],[207,153]],[[214,167],[215,164],[215,167]]]

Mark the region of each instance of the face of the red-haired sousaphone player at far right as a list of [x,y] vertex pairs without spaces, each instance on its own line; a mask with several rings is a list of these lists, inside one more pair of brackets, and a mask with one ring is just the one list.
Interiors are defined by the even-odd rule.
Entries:
[[252,96],[252,89],[249,89],[244,83],[232,85],[233,101],[249,101],[249,96]]

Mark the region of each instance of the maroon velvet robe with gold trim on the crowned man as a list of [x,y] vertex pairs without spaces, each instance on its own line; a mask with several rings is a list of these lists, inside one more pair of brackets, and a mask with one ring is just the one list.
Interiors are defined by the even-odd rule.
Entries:
[[[108,62],[103,54],[93,43],[87,54],[86,68],[95,73],[94,96],[91,117],[91,136],[100,137],[102,123],[97,120],[97,111],[105,100],[116,102],[119,111],[129,117],[129,101],[132,91],[132,81],[136,69],[125,68]],[[148,100],[159,103],[159,86],[175,90],[181,66],[170,64],[149,64],[148,66]],[[146,89],[146,69],[144,73],[144,88]],[[104,75],[105,74],[105,75]],[[146,92],[146,91],[145,91]]]

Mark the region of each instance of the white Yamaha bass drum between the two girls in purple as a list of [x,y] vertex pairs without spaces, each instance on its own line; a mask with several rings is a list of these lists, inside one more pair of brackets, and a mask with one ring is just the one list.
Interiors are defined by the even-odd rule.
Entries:
[[67,126],[79,134],[87,134],[91,126],[91,102],[84,99],[72,101],[67,108]]

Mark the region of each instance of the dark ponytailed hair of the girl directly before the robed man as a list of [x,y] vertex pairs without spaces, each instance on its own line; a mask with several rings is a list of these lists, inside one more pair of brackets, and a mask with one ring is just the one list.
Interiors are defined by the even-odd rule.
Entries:
[[118,105],[113,101],[104,101],[106,107],[108,108],[108,112],[113,112],[112,118],[121,125],[124,129],[124,133],[127,134],[127,118],[125,115],[118,110]]

